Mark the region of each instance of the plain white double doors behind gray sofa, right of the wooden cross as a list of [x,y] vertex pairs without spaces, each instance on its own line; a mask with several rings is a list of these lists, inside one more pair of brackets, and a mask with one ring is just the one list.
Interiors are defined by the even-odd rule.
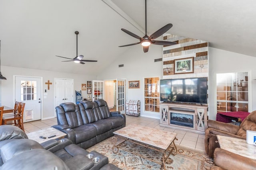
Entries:
[[66,102],[74,103],[73,82],[73,79],[55,79],[55,107]]

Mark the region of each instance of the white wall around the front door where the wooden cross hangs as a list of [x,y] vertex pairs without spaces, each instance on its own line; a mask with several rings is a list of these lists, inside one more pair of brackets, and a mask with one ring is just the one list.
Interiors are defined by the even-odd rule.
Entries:
[[[72,64],[72,63],[70,63]],[[47,70],[35,70],[27,68],[17,68],[9,66],[1,66],[2,74],[7,78],[7,80],[1,80],[1,104],[4,106],[13,107],[14,106],[14,75],[15,76],[36,76],[42,77],[42,89],[43,92],[47,90],[47,98],[44,99],[42,96],[42,108],[43,117],[42,119],[54,117],[54,78],[70,78],[74,79],[74,91],[81,90],[82,84],[87,84],[87,81],[96,79],[96,76],[90,76],[86,74],[68,74],[63,72],[52,72]],[[48,85],[45,84],[50,80],[52,85],[50,85],[50,90],[48,90]],[[87,91],[82,90],[82,97],[87,98]],[[74,102],[76,101],[74,94]]]

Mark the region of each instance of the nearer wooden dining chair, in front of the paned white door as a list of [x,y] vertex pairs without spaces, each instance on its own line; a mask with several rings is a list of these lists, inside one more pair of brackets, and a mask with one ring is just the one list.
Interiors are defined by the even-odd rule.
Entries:
[[[24,108],[25,108],[25,103],[20,102],[18,104],[18,109],[17,109],[16,114],[14,113],[14,115],[2,117],[2,121],[1,121],[2,125],[12,124],[12,125],[19,127],[23,131],[25,131],[24,125],[23,125]],[[11,121],[11,123],[9,123],[10,121]]]

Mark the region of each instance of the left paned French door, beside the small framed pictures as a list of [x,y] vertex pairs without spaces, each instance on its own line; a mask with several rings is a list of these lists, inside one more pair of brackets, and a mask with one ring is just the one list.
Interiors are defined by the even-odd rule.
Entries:
[[92,101],[97,99],[104,100],[104,81],[92,80]]

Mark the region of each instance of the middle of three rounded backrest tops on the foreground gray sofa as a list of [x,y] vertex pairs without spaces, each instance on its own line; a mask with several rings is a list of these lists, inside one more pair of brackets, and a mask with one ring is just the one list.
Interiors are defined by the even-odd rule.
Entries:
[[17,156],[26,150],[32,149],[43,149],[43,147],[36,141],[30,139],[17,139],[7,143],[1,148],[1,157],[5,163],[14,156]]

